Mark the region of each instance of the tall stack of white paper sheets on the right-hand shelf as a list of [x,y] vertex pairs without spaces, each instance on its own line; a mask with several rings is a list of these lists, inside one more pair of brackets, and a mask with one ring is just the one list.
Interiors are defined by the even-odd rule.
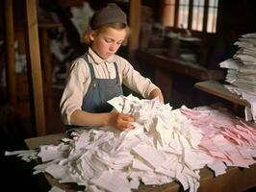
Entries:
[[231,92],[242,96],[250,103],[244,109],[246,120],[256,121],[256,33],[245,34],[235,42],[239,47],[232,59],[219,63],[228,68],[224,84]]

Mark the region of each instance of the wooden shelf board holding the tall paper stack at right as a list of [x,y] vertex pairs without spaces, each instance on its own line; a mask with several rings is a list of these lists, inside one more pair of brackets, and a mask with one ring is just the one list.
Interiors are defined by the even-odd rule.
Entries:
[[222,99],[228,100],[234,104],[250,107],[250,104],[247,101],[230,92],[227,88],[224,87],[223,84],[220,84],[218,81],[199,82],[194,84],[194,87],[207,93],[216,95]]

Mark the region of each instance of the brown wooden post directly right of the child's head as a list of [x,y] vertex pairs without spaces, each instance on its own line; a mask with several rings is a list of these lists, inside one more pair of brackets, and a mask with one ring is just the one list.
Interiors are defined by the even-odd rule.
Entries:
[[131,36],[129,39],[129,60],[135,61],[135,52],[139,48],[140,26],[141,26],[141,0],[130,1],[129,25]]

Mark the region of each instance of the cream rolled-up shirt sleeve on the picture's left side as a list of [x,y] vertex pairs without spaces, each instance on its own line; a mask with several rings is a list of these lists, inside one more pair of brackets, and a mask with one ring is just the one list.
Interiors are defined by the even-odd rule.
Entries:
[[61,115],[65,125],[70,125],[70,115],[76,109],[81,109],[84,94],[90,84],[90,72],[85,60],[78,59],[71,63],[66,84],[60,103]]

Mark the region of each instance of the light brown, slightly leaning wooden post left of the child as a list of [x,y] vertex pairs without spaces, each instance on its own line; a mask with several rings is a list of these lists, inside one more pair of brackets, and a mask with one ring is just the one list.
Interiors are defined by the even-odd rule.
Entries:
[[46,134],[45,114],[43,103],[43,90],[41,80],[41,65],[38,40],[38,17],[37,17],[37,1],[25,0],[25,42],[26,42],[26,58],[28,65],[28,80],[30,87],[30,98],[32,119],[36,126],[37,135]]

